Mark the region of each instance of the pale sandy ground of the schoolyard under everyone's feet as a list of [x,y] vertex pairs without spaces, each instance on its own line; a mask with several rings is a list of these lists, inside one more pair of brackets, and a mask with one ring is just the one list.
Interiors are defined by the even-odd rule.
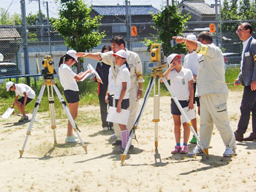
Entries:
[[[239,120],[242,92],[230,92],[229,118],[233,130]],[[29,123],[20,117],[1,118],[0,191],[256,191],[256,143],[238,142],[237,156],[223,158],[225,146],[214,128],[209,159],[172,155],[175,145],[170,98],[160,98],[158,150],[154,147],[153,99],[147,107],[133,141],[136,154],[120,166],[109,136],[103,132],[99,107],[79,108],[78,127],[88,154],[78,144],[65,144],[67,119],[57,119],[57,145],[48,113],[38,113],[22,158]],[[64,114],[64,112],[63,112]],[[30,114],[30,117],[32,114]],[[199,123],[199,118],[198,118]],[[199,125],[198,125],[199,127]],[[252,130],[252,123],[245,136]],[[192,138],[192,134],[190,134]],[[192,149],[194,145],[189,145]]]

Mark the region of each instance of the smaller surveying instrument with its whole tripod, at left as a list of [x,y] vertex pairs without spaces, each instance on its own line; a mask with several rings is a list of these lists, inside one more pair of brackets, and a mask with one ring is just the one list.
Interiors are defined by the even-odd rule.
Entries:
[[[62,103],[62,107],[63,107],[63,109],[65,110],[65,112],[68,116],[68,120],[71,123],[74,132],[77,133],[77,136],[78,136],[78,138],[79,138],[79,140],[82,144],[82,147],[84,148],[84,150],[87,153],[87,145],[85,145],[83,143],[83,140],[82,140],[82,138],[79,134],[80,130],[78,129],[77,125],[74,123],[74,119],[72,118],[72,115],[69,112],[67,104],[64,101],[64,99],[61,95],[61,92],[59,92],[59,89],[56,85],[56,82],[53,80],[53,74],[56,74],[56,71],[54,70],[54,67],[53,67],[54,63],[53,63],[51,55],[44,56],[44,59],[43,59],[42,63],[43,63],[42,75],[44,77],[44,83],[43,83],[42,88],[40,90],[40,93],[38,95],[37,102],[34,105],[34,111],[33,111],[31,122],[29,123],[26,139],[24,141],[22,150],[19,150],[19,154],[22,156],[22,154],[24,152],[24,149],[25,149],[25,146],[26,146],[26,143],[27,143],[27,140],[28,140],[28,136],[31,135],[32,126],[34,124],[34,120],[36,119],[37,110],[38,110],[39,105],[41,103],[41,100],[42,100],[42,97],[43,97],[43,92],[44,92],[44,89],[46,88],[46,86],[47,86],[47,92],[48,92],[49,109],[50,109],[50,117],[51,117],[51,128],[53,130],[54,144],[57,144],[57,140],[56,140],[56,131],[55,131],[55,129],[56,129],[56,119],[55,119],[55,112],[54,112],[53,88],[54,88],[56,94],[58,95],[59,101]],[[51,88],[51,94],[50,94],[50,88]]]

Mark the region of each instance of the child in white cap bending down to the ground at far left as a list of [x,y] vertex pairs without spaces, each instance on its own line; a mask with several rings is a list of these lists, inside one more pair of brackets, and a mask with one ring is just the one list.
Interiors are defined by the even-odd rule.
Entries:
[[[17,108],[21,111],[23,117],[21,118],[21,120],[19,120],[19,122],[27,122],[28,116],[25,113],[25,107],[29,102],[31,102],[32,99],[36,97],[33,89],[23,83],[14,84],[13,82],[7,82],[6,90],[7,92],[9,90],[15,92],[16,97],[11,108],[14,108],[14,106],[16,105]],[[21,98],[19,98],[19,96],[21,96]]]

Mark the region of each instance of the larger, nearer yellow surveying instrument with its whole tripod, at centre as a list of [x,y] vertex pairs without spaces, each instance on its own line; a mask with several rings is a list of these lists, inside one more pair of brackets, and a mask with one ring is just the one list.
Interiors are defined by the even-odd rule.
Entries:
[[[133,136],[135,134],[135,129],[138,129],[138,124],[140,121],[140,118],[142,117],[142,113],[143,110],[145,108],[145,105],[147,103],[147,100],[149,98],[149,94],[152,90],[152,87],[154,87],[154,100],[153,100],[153,120],[152,122],[154,122],[154,142],[155,142],[155,149],[158,148],[158,122],[159,122],[159,104],[160,104],[160,78],[163,79],[163,82],[165,84],[165,86],[167,87],[170,95],[172,96],[175,104],[177,105],[177,107],[180,110],[180,113],[182,113],[182,115],[185,118],[185,122],[187,122],[187,124],[189,125],[190,130],[192,130],[193,134],[195,135],[195,138],[197,138],[198,144],[200,146],[200,148],[203,150],[204,154],[207,155],[208,157],[208,150],[203,148],[203,145],[200,144],[200,139],[197,135],[197,133],[195,133],[195,130],[192,126],[192,123],[190,121],[190,119],[187,117],[187,115],[184,112],[184,109],[182,108],[182,106],[180,105],[178,99],[175,97],[172,88],[170,87],[169,83],[167,82],[167,79],[165,79],[163,77],[163,68],[166,68],[167,65],[166,63],[164,63],[164,53],[162,50],[162,44],[160,43],[154,43],[151,45],[150,47],[150,63],[149,63],[149,67],[150,69],[152,69],[152,73],[151,73],[151,78],[149,80],[148,83],[148,87],[147,90],[145,91],[145,95],[144,98],[142,100],[142,104],[140,105],[139,108],[139,112],[137,114],[137,118],[135,120],[135,123],[133,125],[132,130],[130,130],[130,135],[129,135],[129,139],[126,145],[126,149],[124,149],[124,153],[121,155],[121,165],[123,165],[124,160],[126,160],[126,156],[129,150],[129,146],[132,143],[132,139]],[[155,89],[155,80],[158,79],[158,90],[157,90],[157,94],[156,94],[156,89]]]

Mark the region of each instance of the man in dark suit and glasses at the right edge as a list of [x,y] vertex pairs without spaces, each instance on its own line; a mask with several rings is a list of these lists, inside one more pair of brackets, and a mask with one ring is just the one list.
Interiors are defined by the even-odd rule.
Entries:
[[[235,140],[238,142],[256,140],[256,40],[252,37],[252,31],[253,28],[249,23],[242,23],[237,29],[237,34],[243,41],[243,52],[240,73],[234,84],[241,83],[244,86],[241,116],[238,129],[235,131]],[[249,137],[243,138],[250,120],[250,112],[252,112],[253,132]]]

